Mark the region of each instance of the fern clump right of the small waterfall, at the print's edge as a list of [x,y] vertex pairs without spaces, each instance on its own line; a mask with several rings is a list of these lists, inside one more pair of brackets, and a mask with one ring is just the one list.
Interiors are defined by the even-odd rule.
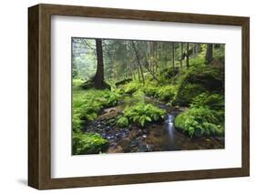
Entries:
[[224,125],[222,113],[206,107],[190,108],[175,118],[175,127],[191,138],[200,136],[222,136]]

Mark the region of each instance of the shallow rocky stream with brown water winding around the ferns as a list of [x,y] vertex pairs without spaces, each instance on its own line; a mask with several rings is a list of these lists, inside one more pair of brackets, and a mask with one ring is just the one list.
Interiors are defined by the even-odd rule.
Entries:
[[145,101],[166,109],[167,114],[163,121],[149,124],[146,128],[132,124],[128,128],[118,128],[116,117],[126,106],[136,101],[138,102],[138,99],[135,97],[124,97],[117,107],[104,109],[97,120],[89,123],[84,131],[97,132],[107,138],[107,153],[224,148],[224,138],[189,138],[177,130],[174,126],[175,117],[186,108],[170,108],[151,97],[145,97]]

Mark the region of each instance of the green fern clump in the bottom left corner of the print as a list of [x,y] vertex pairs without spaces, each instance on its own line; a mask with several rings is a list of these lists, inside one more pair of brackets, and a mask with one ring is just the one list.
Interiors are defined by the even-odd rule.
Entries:
[[98,154],[106,151],[108,140],[97,133],[73,133],[73,154]]

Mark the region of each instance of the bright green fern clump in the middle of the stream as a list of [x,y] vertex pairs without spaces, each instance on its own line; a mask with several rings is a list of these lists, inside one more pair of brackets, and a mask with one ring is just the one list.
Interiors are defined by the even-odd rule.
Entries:
[[164,117],[165,110],[151,104],[139,102],[134,106],[126,107],[123,111],[128,120],[144,127],[147,123],[158,121]]

